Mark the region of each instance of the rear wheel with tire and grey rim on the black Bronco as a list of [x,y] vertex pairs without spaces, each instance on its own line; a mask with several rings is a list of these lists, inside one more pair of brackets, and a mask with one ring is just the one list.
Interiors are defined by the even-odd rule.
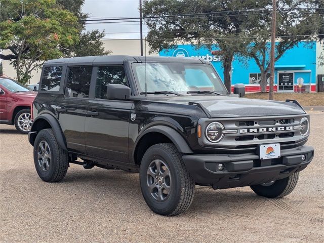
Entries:
[[68,153],[58,145],[52,129],[44,129],[37,134],[33,151],[35,168],[43,181],[57,182],[64,178]]

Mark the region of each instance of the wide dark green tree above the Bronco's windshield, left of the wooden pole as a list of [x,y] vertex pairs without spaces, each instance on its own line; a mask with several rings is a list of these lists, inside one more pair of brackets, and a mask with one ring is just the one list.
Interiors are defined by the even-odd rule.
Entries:
[[[213,49],[215,43],[222,54],[224,83],[231,92],[232,60],[249,44],[245,38],[257,25],[256,15],[266,11],[250,12],[264,8],[269,0],[151,0],[144,2],[143,16],[168,16],[200,14],[182,17],[161,17],[147,19],[149,28],[147,41],[152,51],[189,43],[197,47]],[[213,14],[213,12],[218,12]],[[220,13],[221,12],[221,13]],[[203,13],[203,14],[201,14]]]

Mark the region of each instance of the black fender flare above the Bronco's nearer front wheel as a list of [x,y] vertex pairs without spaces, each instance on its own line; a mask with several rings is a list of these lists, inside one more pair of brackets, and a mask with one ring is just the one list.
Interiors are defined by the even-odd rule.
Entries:
[[141,138],[143,136],[145,136],[146,134],[152,133],[152,132],[161,133],[161,134],[165,135],[166,137],[168,137],[174,143],[174,145],[177,147],[179,152],[186,153],[186,154],[193,153],[193,151],[189,147],[188,143],[180,135],[180,133],[178,133],[176,130],[174,130],[173,128],[170,128],[168,126],[156,125],[156,126],[146,129],[136,139],[133,155],[135,153],[135,149],[137,148],[138,142],[141,140]]

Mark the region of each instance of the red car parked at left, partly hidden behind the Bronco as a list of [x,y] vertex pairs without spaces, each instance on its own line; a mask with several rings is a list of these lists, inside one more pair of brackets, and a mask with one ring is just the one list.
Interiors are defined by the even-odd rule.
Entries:
[[27,134],[32,125],[31,103],[36,92],[7,77],[0,77],[0,124],[15,125]]

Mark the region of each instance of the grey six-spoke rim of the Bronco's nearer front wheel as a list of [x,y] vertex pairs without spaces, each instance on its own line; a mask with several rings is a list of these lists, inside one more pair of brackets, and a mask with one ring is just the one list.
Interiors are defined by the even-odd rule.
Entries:
[[157,201],[166,200],[171,192],[170,170],[164,161],[155,159],[147,168],[147,189]]

